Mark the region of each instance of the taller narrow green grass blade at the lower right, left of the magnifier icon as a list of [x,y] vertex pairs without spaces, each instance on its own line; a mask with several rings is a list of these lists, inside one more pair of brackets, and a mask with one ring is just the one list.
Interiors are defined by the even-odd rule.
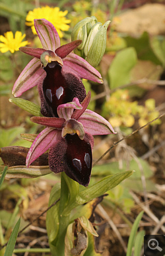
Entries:
[[133,249],[133,245],[134,245],[134,241],[135,241],[135,235],[137,233],[137,229],[139,227],[139,222],[141,221],[141,218],[143,216],[143,211],[140,212],[140,214],[137,216],[133,227],[131,229],[131,234],[129,236],[129,241],[128,241],[128,245],[127,245],[127,254],[126,256],[131,256],[132,255],[132,249]]

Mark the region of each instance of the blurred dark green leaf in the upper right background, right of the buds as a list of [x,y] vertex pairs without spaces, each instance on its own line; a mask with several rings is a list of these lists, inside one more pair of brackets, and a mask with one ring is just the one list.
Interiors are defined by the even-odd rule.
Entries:
[[161,64],[150,46],[150,37],[147,32],[144,32],[141,37],[133,38],[131,36],[125,37],[127,47],[134,47],[137,51],[139,60],[150,60],[155,64]]

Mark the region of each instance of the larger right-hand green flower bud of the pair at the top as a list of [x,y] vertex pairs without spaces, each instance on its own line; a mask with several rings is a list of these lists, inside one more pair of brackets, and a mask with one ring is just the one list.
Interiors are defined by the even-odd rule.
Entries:
[[106,31],[109,25],[110,21],[107,21],[104,25],[96,23],[90,29],[86,44],[84,45],[86,60],[94,67],[98,66],[106,50]]

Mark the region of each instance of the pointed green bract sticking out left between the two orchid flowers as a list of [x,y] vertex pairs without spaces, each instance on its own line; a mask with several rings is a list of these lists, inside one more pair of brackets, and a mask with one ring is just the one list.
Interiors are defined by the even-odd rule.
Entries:
[[36,117],[42,117],[42,114],[40,113],[40,107],[31,101],[21,99],[20,97],[13,97],[9,99],[9,101],[15,103],[15,105],[28,111],[28,113],[35,115]]

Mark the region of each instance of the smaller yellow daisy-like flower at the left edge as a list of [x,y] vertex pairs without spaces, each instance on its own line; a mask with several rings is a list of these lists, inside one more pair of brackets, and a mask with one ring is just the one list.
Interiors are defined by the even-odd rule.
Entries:
[[19,50],[21,46],[26,46],[29,44],[28,41],[22,42],[26,34],[22,35],[22,32],[16,31],[15,38],[12,31],[7,31],[5,36],[0,36],[0,52],[8,52],[14,53],[16,50]]

